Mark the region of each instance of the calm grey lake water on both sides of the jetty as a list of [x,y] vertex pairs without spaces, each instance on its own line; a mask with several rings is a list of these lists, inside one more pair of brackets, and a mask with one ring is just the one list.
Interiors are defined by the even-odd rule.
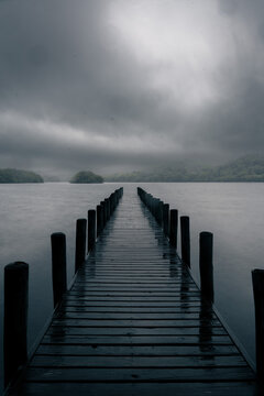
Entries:
[[198,284],[199,232],[213,232],[215,304],[254,360],[251,271],[264,268],[262,183],[0,185],[1,339],[4,265],[14,261],[30,264],[29,346],[32,348],[53,309],[51,233],[66,233],[69,283],[74,275],[76,219],[86,217],[88,209],[95,209],[119,186],[124,186],[124,194],[136,194],[136,186],[141,186],[169,204],[170,209],[178,209],[180,216],[190,217],[191,270]]

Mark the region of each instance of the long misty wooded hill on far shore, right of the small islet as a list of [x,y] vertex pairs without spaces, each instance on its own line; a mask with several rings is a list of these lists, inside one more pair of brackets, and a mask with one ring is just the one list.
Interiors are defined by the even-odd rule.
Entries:
[[245,156],[216,167],[193,167],[184,164],[153,172],[133,172],[106,177],[108,182],[264,182],[264,156]]

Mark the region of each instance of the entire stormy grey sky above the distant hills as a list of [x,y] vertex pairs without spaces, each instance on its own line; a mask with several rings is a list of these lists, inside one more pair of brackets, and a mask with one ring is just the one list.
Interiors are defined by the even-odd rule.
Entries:
[[0,167],[223,163],[263,131],[263,0],[0,0]]

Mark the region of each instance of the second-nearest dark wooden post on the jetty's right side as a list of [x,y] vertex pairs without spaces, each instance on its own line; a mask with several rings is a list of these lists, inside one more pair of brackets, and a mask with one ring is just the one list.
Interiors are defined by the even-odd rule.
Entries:
[[213,267],[212,267],[212,241],[211,232],[200,233],[199,244],[199,266],[200,266],[200,286],[202,296],[213,302]]

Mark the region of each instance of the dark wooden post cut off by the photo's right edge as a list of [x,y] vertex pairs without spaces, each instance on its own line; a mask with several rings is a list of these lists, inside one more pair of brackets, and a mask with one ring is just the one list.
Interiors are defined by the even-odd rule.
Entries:
[[264,377],[264,270],[252,271],[253,293],[255,302],[255,352],[256,375]]

